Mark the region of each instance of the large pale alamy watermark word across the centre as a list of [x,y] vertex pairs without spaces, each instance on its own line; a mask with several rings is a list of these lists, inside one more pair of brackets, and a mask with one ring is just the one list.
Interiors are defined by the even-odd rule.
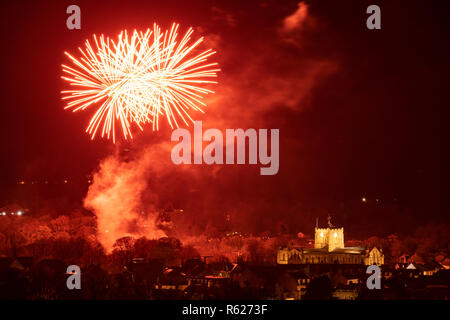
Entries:
[[[268,135],[270,136],[270,154]],[[175,129],[171,141],[178,141],[172,148],[171,159],[179,164],[261,164],[261,175],[275,175],[280,166],[279,129],[208,129],[203,133],[202,122],[194,121],[194,152],[191,133],[187,129]],[[246,143],[248,141],[248,144]],[[203,148],[203,142],[209,142]],[[236,142],[236,148],[235,148]],[[224,150],[225,143],[225,150]],[[248,152],[246,152],[248,145]],[[235,157],[236,150],[236,157]],[[224,152],[225,151],[225,152]],[[225,157],[224,157],[225,155]],[[193,159],[192,159],[193,156]]]

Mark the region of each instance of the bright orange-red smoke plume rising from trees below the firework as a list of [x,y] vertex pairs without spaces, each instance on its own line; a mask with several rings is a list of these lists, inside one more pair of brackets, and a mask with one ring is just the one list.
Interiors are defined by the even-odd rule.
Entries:
[[123,236],[165,236],[155,226],[156,208],[150,202],[142,204],[143,193],[148,198],[151,192],[147,181],[153,155],[143,152],[124,161],[116,153],[104,159],[94,174],[84,204],[97,216],[98,238],[107,250]]

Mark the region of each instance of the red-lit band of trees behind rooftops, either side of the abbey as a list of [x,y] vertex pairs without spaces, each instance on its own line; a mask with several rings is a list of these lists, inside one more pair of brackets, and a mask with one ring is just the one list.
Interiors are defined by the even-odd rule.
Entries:
[[[28,256],[60,259],[79,265],[102,264],[121,268],[133,258],[157,259],[165,265],[178,265],[184,259],[211,256],[210,260],[236,261],[238,258],[259,264],[274,264],[280,246],[295,245],[295,236],[270,237],[184,236],[147,239],[131,236],[116,240],[113,250],[105,252],[97,239],[95,216],[75,212],[70,216],[0,216],[0,256]],[[302,235],[303,237],[303,235]],[[424,263],[449,257],[450,227],[442,224],[421,226],[408,236],[373,236],[358,241],[362,246],[383,249],[387,262],[397,262],[401,255],[415,256]]]

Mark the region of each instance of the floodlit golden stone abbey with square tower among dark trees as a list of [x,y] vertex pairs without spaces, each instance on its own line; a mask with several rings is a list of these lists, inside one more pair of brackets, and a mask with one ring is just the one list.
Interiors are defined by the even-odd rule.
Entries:
[[344,228],[334,227],[328,217],[328,226],[316,225],[314,248],[284,247],[278,249],[278,264],[364,264],[383,265],[384,254],[376,247],[344,246]]

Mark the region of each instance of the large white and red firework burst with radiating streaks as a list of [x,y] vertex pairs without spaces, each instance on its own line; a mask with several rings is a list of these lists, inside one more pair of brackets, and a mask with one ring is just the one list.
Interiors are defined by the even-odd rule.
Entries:
[[95,106],[86,132],[94,139],[100,129],[114,142],[116,122],[125,139],[133,137],[132,123],[141,130],[152,123],[158,130],[161,116],[171,128],[179,127],[180,120],[189,125],[189,111],[203,112],[203,95],[213,93],[204,86],[217,83],[211,78],[220,71],[217,63],[206,63],[215,51],[194,54],[203,37],[189,44],[192,33],[190,28],[178,41],[177,24],[164,33],[155,24],[153,30],[135,30],[130,36],[122,31],[117,41],[94,35],[93,45],[86,40],[85,48],[79,48],[79,58],[65,52],[73,64],[62,65],[62,78],[72,87],[62,91],[65,109]]

